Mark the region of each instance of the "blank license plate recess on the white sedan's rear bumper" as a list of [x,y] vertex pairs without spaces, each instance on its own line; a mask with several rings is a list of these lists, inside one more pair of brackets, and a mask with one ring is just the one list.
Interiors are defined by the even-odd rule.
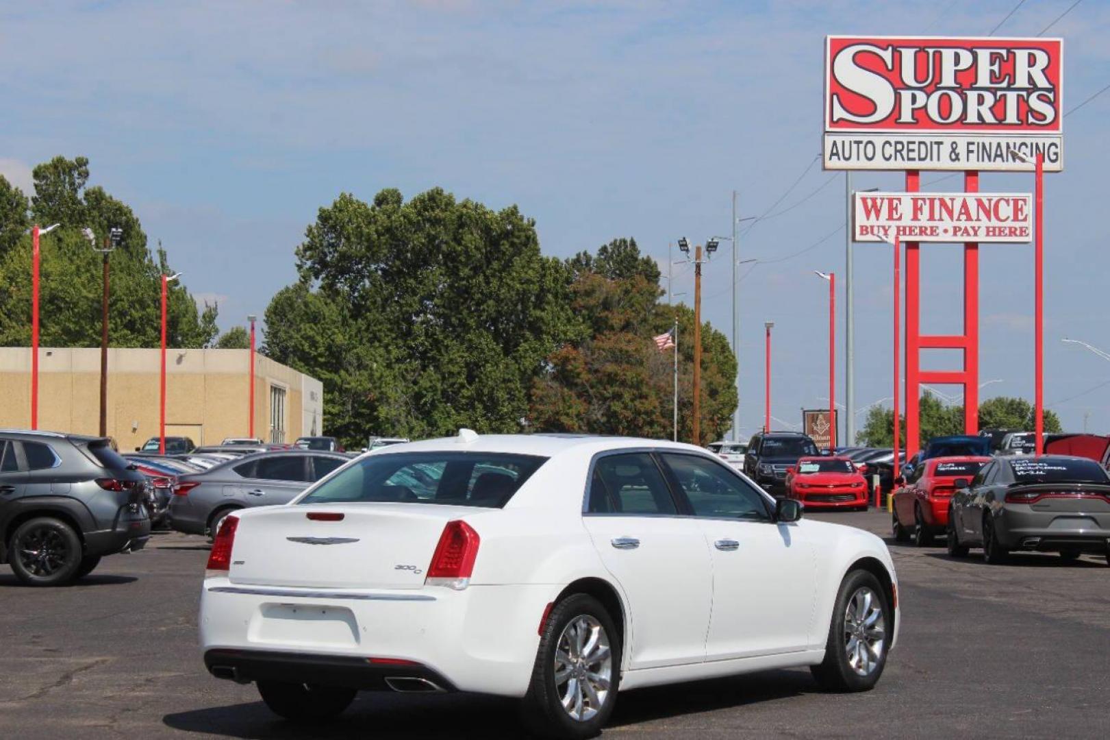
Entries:
[[248,639],[264,644],[353,648],[359,644],[359,622],[343,607],[264,603],[251,620]]

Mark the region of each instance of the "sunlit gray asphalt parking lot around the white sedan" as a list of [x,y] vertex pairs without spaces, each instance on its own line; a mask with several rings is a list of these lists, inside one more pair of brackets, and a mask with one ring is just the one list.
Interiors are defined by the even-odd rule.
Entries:
[[[884,536],[885,512],[816,514]],[[889,540],[888,540],[889,542]],[[894,546],[902,628],[879,686],[821,693],[775,671],[622,693],[605,737],[1110,736],[1110,568],[1084,556]],[[513,702],[363,693],[311,728],[271,714],[253,687],[210,678],[196,649],[208,547],[157,534],[78,586],[31,589],[0,571],[0,738],[519,737]]]

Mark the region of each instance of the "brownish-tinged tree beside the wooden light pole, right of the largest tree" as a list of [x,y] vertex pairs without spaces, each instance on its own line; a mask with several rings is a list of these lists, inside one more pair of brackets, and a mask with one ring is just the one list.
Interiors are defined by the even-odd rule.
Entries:
[[[669,438],[674,413],[674,356],[653,337],[678,320],[679,338],[694,336],[694,312],[657,301],[659,271],[634,240],[614,240],[597,257],[568,260],[575,273],[572,341],[548,359],[532,390],[531,420],[546,431]],[[736,408],[736,360],[723,333],[702,331],[700,442],[719,437]],[[679,341],[680,439],[693,436],[694,346]]]

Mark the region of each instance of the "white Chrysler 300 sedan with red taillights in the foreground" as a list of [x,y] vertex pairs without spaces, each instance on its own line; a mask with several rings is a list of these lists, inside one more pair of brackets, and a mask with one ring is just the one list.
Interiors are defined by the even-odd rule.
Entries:
[[890,553],[800,518],[688,444],[462,430],[383,448],[228,517],[204,663],[292,719],[360,689],[475,691],[565,738],[596,734],[622,689],[801,666],[870,689],[898,630]]

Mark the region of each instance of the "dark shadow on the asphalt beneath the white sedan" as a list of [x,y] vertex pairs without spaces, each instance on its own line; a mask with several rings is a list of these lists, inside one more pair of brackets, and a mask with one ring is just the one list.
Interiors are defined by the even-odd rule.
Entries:
[[[817,691],[808,671],[767,671],[622,693],[609,720],[625,724],[713,711]],[[167,714],[175,730],[229,738],[524,738],[517,702],[498,697],[450,694],[405,697],[363,692],[327,722],[297,724],[279,719],[261,701]]]

